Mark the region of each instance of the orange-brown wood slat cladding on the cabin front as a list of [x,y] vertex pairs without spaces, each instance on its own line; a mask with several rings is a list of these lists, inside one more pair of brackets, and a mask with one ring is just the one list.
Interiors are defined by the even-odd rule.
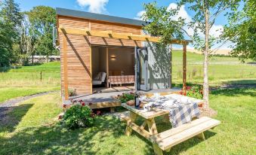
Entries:
[[[133,33],[140,35],[139,26],[127,26],[119,23],[106,23],[101,21],[79,19],[74,17],[57,17],[58,26],[68,28],[90,28],[95,30],[107,30],[113,32]],[[60,38],[60,69],[61,69],[61,92],[63,94],[63,34]],[[141,41],[128,41],[115,38],[86,37],[83,35],[67,35],[67,72],[68,87],[76,89],[78,94],[91,93],[91,44],[109,45],[109,46],[140,46]]]

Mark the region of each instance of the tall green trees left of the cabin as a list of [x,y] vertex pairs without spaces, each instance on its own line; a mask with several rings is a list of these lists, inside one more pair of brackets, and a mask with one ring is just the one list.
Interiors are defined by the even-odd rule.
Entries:
[[13,63],[28,63],[35,55],[57,55],[52,43],[56,24],[54,8],[37,6],[20,12],[14,0],[0,1],[0,67]]

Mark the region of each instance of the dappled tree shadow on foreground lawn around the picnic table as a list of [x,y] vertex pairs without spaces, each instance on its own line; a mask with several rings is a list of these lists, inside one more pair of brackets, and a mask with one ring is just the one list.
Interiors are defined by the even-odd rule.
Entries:
[[[21,116],[26,114],[32,105],[20,110]],[[23,112],[22,112],[23,111]],[[23,113],[23,114],[22,114]],[[137,120],[142,123],[141,119]],[[171,123],[163,123],[159,117],[156,120],[159,132],[171,128]],[[16,126],[15,124],[13,124]],[[154,154],[153,145],[146,138],[136,132],[132,132],[131,138],[125,136],[126,123],[122,123],[116,117],[97,117],[93,127],[86,129],[68,130],[59,124],[51,126],[35,126],[25,129],[18,129],[10,136],[0,135],[0,154],[95,154],[98,151],[103,154],[113,154],[116,150],[122,153],[122,148],[127,149],[140,147],[140,144],[134,144],[131,139],[135,137],[146,143],[146,147],[139,148],[143,154]],[[8,132],[13,131],[14,127],[8,128]],[[1,133],[1,132],[0,132]],[[205,138],[213,136],[214,132],[205,132]],[[119,138],[122,138],[121,143]],[[126,141],[130,141],[134,146],[127,146]],[[138,141],[137,141],[138,142]],[[165,154],[177,154],[188,150],[202,142],[199,138],[190,138],[181,144],[171,148],[171,152]],[[111,147],[112,146],[112,147]],[[97,148],[97,149],[95,149]],[[133,150],[131,150],[133,151]]]

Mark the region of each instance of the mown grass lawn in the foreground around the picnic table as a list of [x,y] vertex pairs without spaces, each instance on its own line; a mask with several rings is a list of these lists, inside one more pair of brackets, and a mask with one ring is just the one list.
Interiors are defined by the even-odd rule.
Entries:
[[[256,154],[255,100],[255,89],[212,91],[211,108],[221,125],[205,132],[206,141],[191,138],[165,154]],[[18,105],[8,114],[11,121],[0,124],[0,154],[153,154],[140,135],[125,136],[125,123],[115,117],[97,117],[93,127],[69,131],[54,120],[59,113],[59,93]],[[170,127],[161,120],[159,131]]]

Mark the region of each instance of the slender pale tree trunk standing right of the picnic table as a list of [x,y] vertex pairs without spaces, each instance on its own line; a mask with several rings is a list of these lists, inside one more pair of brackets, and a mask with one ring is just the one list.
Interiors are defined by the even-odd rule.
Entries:
[[203,100],[205,101],[204,108],[209,108],[209,86],[208,86],[208,50],[209,50],[209,12],[208,0],[205,0],[205,51],[204,51],[204,85],[203,85]]

